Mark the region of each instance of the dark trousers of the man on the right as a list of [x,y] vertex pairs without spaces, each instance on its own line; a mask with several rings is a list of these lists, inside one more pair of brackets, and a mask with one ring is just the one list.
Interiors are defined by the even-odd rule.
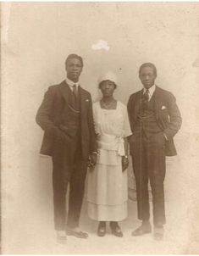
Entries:
[[135,174],[139,220],[150,219],[148,181],[152,187],[153,224],[165,224],[163,181],[165,177],[165,139],[163,133],[134,134],[130,143]]

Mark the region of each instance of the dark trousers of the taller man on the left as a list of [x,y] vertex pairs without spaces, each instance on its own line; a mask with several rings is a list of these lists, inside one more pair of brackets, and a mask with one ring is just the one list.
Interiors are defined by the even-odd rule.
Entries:
[[[87,160],[82,159],[80,139],[69,147],[57,142],[53,153],[53,204],[54,226],[64,231],[79,226],[80,209],[84,197]],[[69,212],[66,212],[66,192],[69,184]],[[66,220],[67,219],[67,220]]]

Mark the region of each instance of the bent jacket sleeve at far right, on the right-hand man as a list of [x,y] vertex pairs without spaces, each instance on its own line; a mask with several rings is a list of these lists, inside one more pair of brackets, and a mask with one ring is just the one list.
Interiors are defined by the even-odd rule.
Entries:
[[168,96],[168,109],[169,125],[163,132],[168,137],[168,139],[171,139],[180,130],[180,127],[182,125],[180,110],[176,104],[176,99],[172,93],[169,93]]

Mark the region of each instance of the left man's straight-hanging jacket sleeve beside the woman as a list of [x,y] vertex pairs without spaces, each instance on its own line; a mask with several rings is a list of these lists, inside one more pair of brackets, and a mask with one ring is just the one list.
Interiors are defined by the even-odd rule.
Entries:
[[89,131],[90,131],[90,153],[97,153],[97,135],[95,133],[92,101],[91,101],[90,94],[89,94],[89,109],[88,109],[88,125],[89,125]]

